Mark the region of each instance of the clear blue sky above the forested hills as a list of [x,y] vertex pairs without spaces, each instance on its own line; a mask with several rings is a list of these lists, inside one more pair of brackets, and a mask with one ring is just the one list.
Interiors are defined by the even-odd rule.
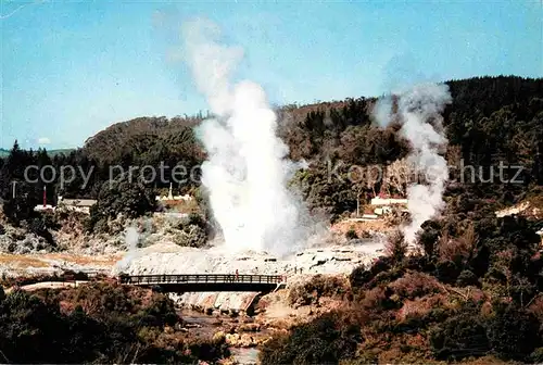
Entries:
[[543,76],[541,0],[0,1],[2,148],[77,147],[116,122],[206,110],[176,56],[197,16],[243,48],[237,77],[276,104]]

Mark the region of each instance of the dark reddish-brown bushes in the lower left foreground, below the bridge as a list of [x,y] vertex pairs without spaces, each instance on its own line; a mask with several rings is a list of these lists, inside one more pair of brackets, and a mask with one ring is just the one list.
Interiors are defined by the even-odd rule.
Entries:
[[149,290],[111,284],[36,295],[15,290],[0,300],[0,362],[185,364],[229,356],[224,341],[165,331],[178,322],[173,302]]

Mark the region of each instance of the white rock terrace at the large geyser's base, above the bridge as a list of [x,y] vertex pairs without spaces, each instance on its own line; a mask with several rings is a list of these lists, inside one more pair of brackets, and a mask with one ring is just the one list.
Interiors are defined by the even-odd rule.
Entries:
[[376,239],[307,248],[286,257],[251,251],[232,252],[222,246],[195,249],[161,243],[128,252],[112,274],[233,274],[236,270],[239,274],[278,274],[289,277],[296,274],[339,274],[350,273],[354,267],[369,263],[381,252],[382,241]]

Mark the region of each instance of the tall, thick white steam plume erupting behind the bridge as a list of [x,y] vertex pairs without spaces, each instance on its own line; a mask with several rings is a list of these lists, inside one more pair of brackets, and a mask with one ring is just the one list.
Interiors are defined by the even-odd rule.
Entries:
[[184,36],[197,87],[215,115],[197,131],[209,154],[202,184],[225,244],[292,252],[305,234],[300,204],[287,189],[294,164],[286,160],[288,147],[276,136],[277,117],[264,90],[247,80],[231,86],[242,52],[216,43],[215,25],[190,22]]

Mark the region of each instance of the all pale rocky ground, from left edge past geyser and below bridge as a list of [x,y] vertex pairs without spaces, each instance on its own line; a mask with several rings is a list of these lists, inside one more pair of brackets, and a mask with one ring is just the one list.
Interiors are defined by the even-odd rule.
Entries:
[[[333,309],[333,301],[296,306],[289,302],[292,288],[317,274],[345,277],[353,268],[369,264],[382,253],[380,226],[365,223],[340,223],[330,227],[305,249],[287,256],[269,253],[232,251],[214,241],[214,247],[181,247],[178,219],[159,216],[131,222],[113,222],[118,235],[84,232],[73,221],[53,232],[52,248],[24,227],[9,225],[0,235],[0,274],[3,277],[62,274],[65,270],[127,274],[235,273],[285,275],[287,287],[260,293],[185,293],[173,295],[186,319],[184,330],[224,337],[232,348],[258,347],[277,331],[287,331],[299,322],[308,320]],[[378,224],[379,225],[379,224]],[[129,229],[136,231],[130,237]],[[364,239],[345,239],[354,229]],[[371,238],[368,238],[371,237]],[[35,284],[41,288],[45,284]],[[48,284],[49,285],[49,284]],[[59,284],[51,284],[59,287]],[[47,286],[47,285],[46,285]],[[33,289],[34,287],[28,287]],[[253,309],[252,316],[247,310]],[[199,310],[200,312],[194,312]],[[188,315],[187,313],[197,313]],[[211,314],[211,315],[210,315]],[[254,355],[254,354],[253,354]]]

